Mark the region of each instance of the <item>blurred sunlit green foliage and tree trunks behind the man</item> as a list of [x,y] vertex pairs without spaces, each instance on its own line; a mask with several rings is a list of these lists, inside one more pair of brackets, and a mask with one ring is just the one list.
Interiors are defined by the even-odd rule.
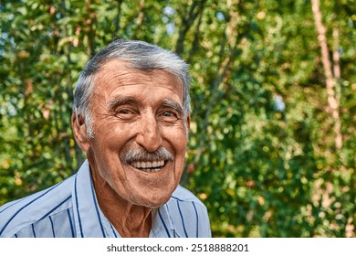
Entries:
[[0,1],[0,205],[71,176],[79,72],[116,37],[191,66],[182,185],[214,237],[355,237],[356,3]]

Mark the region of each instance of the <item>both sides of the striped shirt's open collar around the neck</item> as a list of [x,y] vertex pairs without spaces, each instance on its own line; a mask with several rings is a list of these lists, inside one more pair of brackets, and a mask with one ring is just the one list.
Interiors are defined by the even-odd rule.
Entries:
[[[88,160],[80,166],[73,187],[73,212],[77,237],[120,237],[99,208],[91,181]],[[152,210],[150,237],[180,237],[177,233],[167,205]]]

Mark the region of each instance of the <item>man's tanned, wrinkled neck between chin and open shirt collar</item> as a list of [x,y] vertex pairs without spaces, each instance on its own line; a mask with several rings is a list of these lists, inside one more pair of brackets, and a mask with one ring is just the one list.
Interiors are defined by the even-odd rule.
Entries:
[[120,197],[97,171],[91,177],[99,207],[123,238],[148,238],[152,228],[152,209],[132,205]]

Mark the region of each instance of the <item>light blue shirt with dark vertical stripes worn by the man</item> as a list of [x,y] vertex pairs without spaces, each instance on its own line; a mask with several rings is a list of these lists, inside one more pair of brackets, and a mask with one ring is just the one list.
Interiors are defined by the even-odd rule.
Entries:
[[[0,237],[119,238],[99,208],[86,161],[76,175],[0,208]],[[152,210],[152,238],[211,237],[204,204],[183,187]]]

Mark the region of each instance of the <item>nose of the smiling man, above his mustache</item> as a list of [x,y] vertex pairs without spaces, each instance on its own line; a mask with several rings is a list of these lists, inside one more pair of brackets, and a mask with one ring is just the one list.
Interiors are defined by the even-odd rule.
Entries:
[[141,132],[136,137],[136,143],[148,152],[154,152],[162,145],[162,133],[153,114],[141,117]]

